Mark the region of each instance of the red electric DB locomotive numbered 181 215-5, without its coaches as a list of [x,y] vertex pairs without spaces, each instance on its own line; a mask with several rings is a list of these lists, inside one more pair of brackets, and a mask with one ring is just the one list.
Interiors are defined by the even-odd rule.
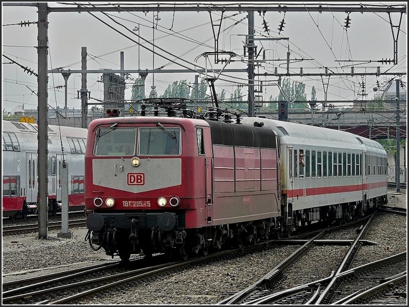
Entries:
[[[158,105],[169,115],[183,109]],[[108,117],[89,124],[87,140],[87,236],[112,257],[127,260],[143,250],[186,259],[280,227],[272,130],[187,117]]]

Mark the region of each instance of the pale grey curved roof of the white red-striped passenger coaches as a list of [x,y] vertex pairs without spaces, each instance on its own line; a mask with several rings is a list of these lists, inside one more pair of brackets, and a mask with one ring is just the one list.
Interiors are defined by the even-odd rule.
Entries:
[[263,127],[274,130],[284,143],[311,144],[316,141],[316,145],[339,146],[339,144],[344,144],[349,148],[362,148],[363,144],[372,150],[385,152],[378,142],[346,131],[260,117],[241,119],[241,122],[246,125],[253,125],[255,121],[263,122]]

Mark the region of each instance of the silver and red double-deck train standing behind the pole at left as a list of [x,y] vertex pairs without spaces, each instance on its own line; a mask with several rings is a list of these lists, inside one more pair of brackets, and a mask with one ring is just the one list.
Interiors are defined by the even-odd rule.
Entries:
[[[2,124],[3,217],[26,218],[38,211],[37,124],[6,120]],[[63,160],[69,165],[69,210],[84,210],[86,135],[86,129],[48,125],[49,214],[61,207]]]

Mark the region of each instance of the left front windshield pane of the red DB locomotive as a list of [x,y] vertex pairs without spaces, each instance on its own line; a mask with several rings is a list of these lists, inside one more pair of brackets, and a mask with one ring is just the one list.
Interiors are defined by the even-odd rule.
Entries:
[[[102,127],[97,131],[94,155],[95,156],[133,155],[136,136],[137,136],[136,127],[120,128]],[[130,152],[124,151],[126,147],[129,147]]]

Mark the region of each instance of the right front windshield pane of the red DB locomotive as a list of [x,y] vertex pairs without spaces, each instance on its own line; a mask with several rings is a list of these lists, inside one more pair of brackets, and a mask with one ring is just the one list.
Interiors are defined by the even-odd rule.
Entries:
[[140,128],[139,155],[180,155],[180,128]]

